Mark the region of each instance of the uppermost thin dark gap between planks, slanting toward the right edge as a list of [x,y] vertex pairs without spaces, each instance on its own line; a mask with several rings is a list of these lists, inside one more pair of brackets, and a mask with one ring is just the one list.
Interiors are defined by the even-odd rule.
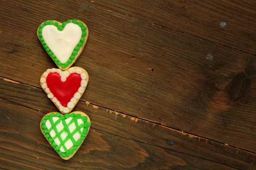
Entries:
[[[104,7],[102,7],[102,6],[97,6],[97,5],[95,5],[95,4],[87,3],[87,2],[84,2],[84,1],[82,1],[82,0],[77,0],[77,1],[79,1],[79,2],[81,2],[81,3],[86,3],[86,4],[91,5],[91,6],[95,6],[95,7],[97,7],[97,8],[101,8],[101,9],[107,10],[107,11],[112,12],[112,13],[120,14],[120,15],[123,15],[123,16],[125,16],[125,17],[131,17],[131,18],[135,18],[135,19],[140,20],[140,21],[144,21],[144,22],[146,22],[146,23],[150,23],[150,22],[148,22],[147,20],[142,20],[142,19],[137,18],[137,17],[132,17],[132,16],[130,16],[130,15],[128,15],[128,14],[122,14],[122,13],[119,13],[119,12],[116,12],[116,11],[111,11],[110,9],[104,8]],[[218,44],[218,45],[223,45],[223,44],[221,44],[221,43],[214,42],[214,41],[211,41],[211,40],[207,40],[207,39],[205,39],[205,38],[201,38],[201,37],[198,37],[198,36],[195,36],[195,35],[192,35],[192,34],[188,34],[188,33],[185,33],[185,32],[183,32],[183,31],[179,31],[179,30],[176,30],[176,29],[173,29],[173,28],[170,28],[170,27],[161,26],[161,25],[156,24],[156,23],[151,23],[151,24],[153,24],[153,26],[155,25],[155,26],[159,26],[159,27],[161,27],[161,28],[171,29],[171,30],[173,30],[173,31],[177,31],[177,32],[180,32],[180,33],[182,33],[182,34],[186,34],[186,35],[189,35],[189,36],[192,36],[192,37],[196,37],[196,38],[199,38],[199,39],[201,39],[201,40],[206,40],[206,41],[209,41],[209,42],[213,42],[213,43]],[[247,54],[251,54],[251,55],[256,56],[256,54],[252,54],[252,53],[247,52],[247,51],[239,50],[239,49],[237,49],[237,48],[233,48],[233,47],[230,47],[230,46],[228,46],[228,45],[223,45],[223,46],[224,46],[224,47],[228,47],[228,48],[232,48],[232,49],[237,50],[237,51],[241,51],[241,52],[244,52],[244,53],[247,53]]]

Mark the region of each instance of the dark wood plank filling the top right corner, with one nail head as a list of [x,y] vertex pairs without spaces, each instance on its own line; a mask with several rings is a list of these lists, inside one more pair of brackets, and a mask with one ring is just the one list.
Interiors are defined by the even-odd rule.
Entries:
[[256,54],[255,0],[81,1]]

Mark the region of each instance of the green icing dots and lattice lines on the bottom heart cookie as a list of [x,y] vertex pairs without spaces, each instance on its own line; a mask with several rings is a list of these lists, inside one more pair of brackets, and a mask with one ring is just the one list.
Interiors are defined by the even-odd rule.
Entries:
[[[58,119],[55,123],[53,123],[53,121],[52,121],[52,117],[59,117],[60,119]],[[65,119],[68,119],[68,118],[70,118],[70,117],[72,117],[73,119],[70,121],[70,123],[69,123],[69,125],[70,124],[72,124],[73,122],[74,122],[74,120],[76,120],[77,121],[77,119],[81,119],[83,122],[84,122],[84,124],[81,124],[81,125],[79,125],[78,126],[78,124],[77,124],[77,122],[75,122],[75,124],[76,124],[76,130],[74,130],[72,133],[76,133],[77,131],[81,134],[81,137],[80,137],[80,139],[78,139],[77,141],[72,141],[72,139],[70,138],[70,135],[72,135],[71,133],[70,133],[70,131],[68,130],[67,131],[67,127],[69,126],[69,125],[66,125],[66,121],[65,121]],[[63,132],[57,132],[56,133],[56,136],[54,136],[53,138],[50,136],[50,134],[49,134],[49,132],[51,131],[51,130],[54,130],[55,132],[56,132],[56,130],[55,130],[55,126],[52,126],[49,130],[47,129],[47,127],[46,127],[46,125],[45,125],[45,123],[46,123],[46,121],[49,119],[49,121],[51,122],[51,124],[58,124],[58,123],[60,123],[60,121],[62,121],[62,123],[63,123],[63,125],[64,125],[64,129],[63,130],[61,130],[61,131],[65,131],[65,132],[67,132],[68,133],[68,136],[66,137],[66,139],[64,139],[64,141],[66,140],[68,140],[68,139],[71,139],[71,141],[73,142],[73,147],[71,147],[69,150],[67,150],[67,148],[65,148],[65,146],[64,146],[64,144],[65,144],[65,142],[64,141],[62,141],[60,138],[60,142],[61,142],[61,144],[60,144],[60,146],[63,146],[64,147],[64,150],[66,151],[65,153],[64,152],[61,152],[60,151],[60,147],[54,142],[54,139],[53,138],[57,138],[61,133],[63,133]],[[63,158],[65,158],[65,157],[69,157],[70,155],[72,155],[73,153],[74,153],[74,151],[75,150],[77,150],[78,149],[78,147],[82,144],[82,142],[84,141],[84,139],[86,138],[86,134],[87,134],[87,132],[88,132],[88,128],[90,127],[90,125],[91,125],[91,122],[89,123],[89,122],[87,122],[87,119],[88,119],[88,117],[87,116],[81,116],[81,114],[75,114],[75,113],[70,113],[70,114],[65,114],[64,116],[63,115],[61,115],[61,113],[51,113],[51,114],[49,114],[49,115],[47,115],[47,116],[45,116],[44,117],[44,119],[42,119],[41,120],[41,123],[42,123],[42,125],[41,125],[41,129],[43,130],[43,132],[45,133],[45,135],[44,135],[44,137],[49,141],[49,143],[52,145],[52,147],[54,148],[54,150],[60,155],[60,156],[62,156]],[[80,131],[80,128],[81,127],[84,127],[84,129],[83,129],[83,131],[81,132]],[[73,136],[73,135],[72,135]],[[63,143],[64,142],[64,143]]]

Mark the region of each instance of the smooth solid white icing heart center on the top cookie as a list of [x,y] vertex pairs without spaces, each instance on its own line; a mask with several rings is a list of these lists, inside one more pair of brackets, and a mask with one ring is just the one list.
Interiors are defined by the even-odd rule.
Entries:
[[82,31],[74,23],[68,23],[62,31],[58,31],[56,26],[47,25],[42,30],[42,36],[52,53],[64,64],[79,43]]

